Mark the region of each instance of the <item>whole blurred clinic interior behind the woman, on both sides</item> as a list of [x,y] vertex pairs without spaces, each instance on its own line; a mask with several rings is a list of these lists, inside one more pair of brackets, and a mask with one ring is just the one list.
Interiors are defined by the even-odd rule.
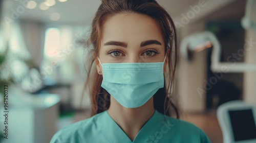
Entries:
[[[178,29],[174,94],[181,119],[202,128],[212,142],[253,142],[256,1],[158,2]],[[0,1],[0,142],[49,142],[60,128],[90,116],[89,93],[82,94],[87,68],[83,45],[100,3]],[[3,138],[4,85],[8,139]]]

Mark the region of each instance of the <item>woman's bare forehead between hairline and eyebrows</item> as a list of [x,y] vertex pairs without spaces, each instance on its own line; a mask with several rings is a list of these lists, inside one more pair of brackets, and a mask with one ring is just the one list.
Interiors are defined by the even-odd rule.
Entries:
[[129,44],[150,39],[163,43],[158,23],[144,14],[117,14],[106,20],[102,27],[102,42],[119,40]]

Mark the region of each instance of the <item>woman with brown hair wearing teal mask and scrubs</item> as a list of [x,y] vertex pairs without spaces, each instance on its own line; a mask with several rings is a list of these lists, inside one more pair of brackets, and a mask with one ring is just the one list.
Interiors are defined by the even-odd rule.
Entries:
[[176,111],[179,118],[167,95],[174,82],[177,34],[156,1],[102,0],[90,43],[86,87],[92,117],[62,128],[52,143],[210,142],[200,128],[170,117]]

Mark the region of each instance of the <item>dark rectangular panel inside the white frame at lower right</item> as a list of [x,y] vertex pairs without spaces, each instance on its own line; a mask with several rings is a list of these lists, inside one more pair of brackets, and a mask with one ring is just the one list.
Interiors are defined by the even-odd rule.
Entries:
[[256,125],[251,109],[228,112],[234,141],[256,139]]

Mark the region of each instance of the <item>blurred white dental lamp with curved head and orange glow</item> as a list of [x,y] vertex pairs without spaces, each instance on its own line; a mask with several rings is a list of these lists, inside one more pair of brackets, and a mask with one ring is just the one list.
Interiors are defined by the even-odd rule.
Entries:
[[[199,44],[199,45],[198,45]],[[200,46],[201,45],[201,46]],[[203,46],[202,46],[203,45]],[[246,71],[256,71],[256,64],[240,62],[221,62],[221,45],[214,33],[204,31],[185,37],[180,44],[181,56],[190,60],[188,51],[202,51],[211,47],[211,67],[216,73],[244,73]],[[200,48],[201,47],[201,48]],[[243,48],[243,47],[242,47]],[[242,49],[243,50],[243,49]]]

